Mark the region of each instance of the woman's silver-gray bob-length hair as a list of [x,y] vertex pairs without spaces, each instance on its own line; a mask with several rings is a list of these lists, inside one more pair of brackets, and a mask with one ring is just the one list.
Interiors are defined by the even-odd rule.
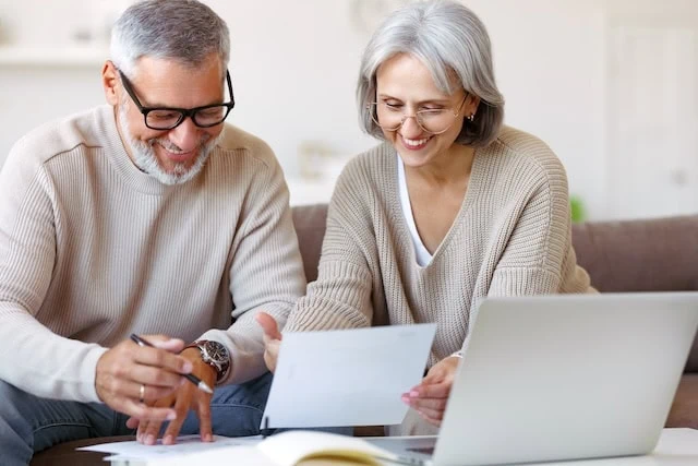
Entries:
[[476,14],[454,1],[411,3],[390,14],[373,34],[361,60],[357,100],[362,129],[384,139],[371,118],[376,100],[376,72],[398,53],[417,57],[430,70],[436,86],[453,94],[454,77],[480,98],[474,120],[464,116],[456,142],[484,147],[497,138],[504,120],[504,97],[497,89],[490,36]]

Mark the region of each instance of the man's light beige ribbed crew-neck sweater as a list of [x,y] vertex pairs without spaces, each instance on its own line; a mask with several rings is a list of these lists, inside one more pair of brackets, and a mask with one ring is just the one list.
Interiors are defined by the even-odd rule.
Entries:
[[26,392],[97,402],[97,359],[131,332],[216,339],[226,382],[252,379],[254,314],[284,323],[304,288],[281,169],[233,127],[181,186],[133,165],[109,106],[29,133],[0,174],[0,379]]

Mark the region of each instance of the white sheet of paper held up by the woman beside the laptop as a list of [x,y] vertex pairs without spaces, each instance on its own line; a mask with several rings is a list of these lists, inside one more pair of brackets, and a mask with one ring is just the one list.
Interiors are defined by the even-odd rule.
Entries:
[[400,395],[424,375],[436,324],[284,335],[262,427],[400,423]]

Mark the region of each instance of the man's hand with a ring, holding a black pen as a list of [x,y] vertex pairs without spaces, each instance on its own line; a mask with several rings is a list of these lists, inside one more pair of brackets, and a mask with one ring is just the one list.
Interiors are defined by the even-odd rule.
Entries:
[[184,342],[164,335],[144,338],[155,347],[139,346],[129,339],[101,355],[95,374],[97,396],[111,409],[139,419],[174,419],[177,414],[169,406],[148,407],[141,397],[148,401],[168,396],[185,381],[181,374],[191,372],[192,365],[176,355]]

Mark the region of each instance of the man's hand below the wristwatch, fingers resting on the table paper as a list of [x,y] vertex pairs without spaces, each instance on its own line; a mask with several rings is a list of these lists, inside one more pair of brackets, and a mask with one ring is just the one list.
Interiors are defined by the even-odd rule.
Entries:
[[[208,386],[215,385],[216,371],[202,360],[198,348],[186,348],[180,356],[191,362],[193,366],[192,373],[194,375],[206,382]],[[184,379],[184,384],[179,386],[177,392],[155,401],[154,406],[157,408],[173,408],[177,413],[177,417],[170,420],[169,426],[163,434],[163,444],[171,445],[174,443],[190,409],[193,409],[198,418],[198,433],[202,442],[213,442],[210,397],[210,394],[198,390],[196,385]],[[146,445],[153,445],[160,433],[163,419],[140,419],[132,417],[127,421],[127,426],[131,429],[137,426],[136,440]]]

